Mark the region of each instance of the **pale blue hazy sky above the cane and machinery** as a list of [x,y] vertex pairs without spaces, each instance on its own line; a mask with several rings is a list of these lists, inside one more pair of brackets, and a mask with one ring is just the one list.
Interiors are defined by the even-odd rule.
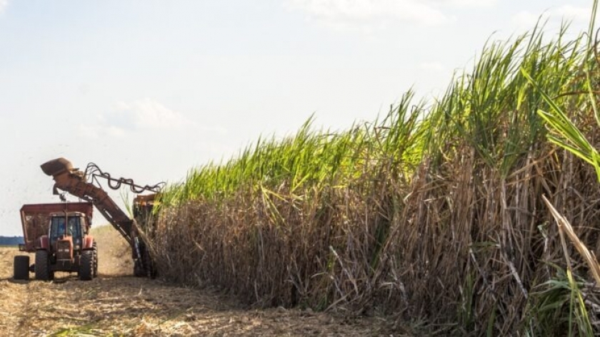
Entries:
[[46,160],[177,182],[313,113],[339,130],[374,120],[409,88],[434,97],[490,37],[541,15],[549,34],[563,18],[580,33],[591,5],[0,0],[0,234],[21,234],[21,204],[58,201]]

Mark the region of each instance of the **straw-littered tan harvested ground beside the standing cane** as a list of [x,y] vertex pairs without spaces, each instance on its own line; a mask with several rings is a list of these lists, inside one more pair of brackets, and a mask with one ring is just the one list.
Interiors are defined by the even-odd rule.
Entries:
[[68,273],[14,281],[19,252],[0,248],[0,336],[403,336],[381,318],[244,309],[210,291],[129,276],[130,252],[119,234],[106,227],[96,238],[99,277],[92,281]]

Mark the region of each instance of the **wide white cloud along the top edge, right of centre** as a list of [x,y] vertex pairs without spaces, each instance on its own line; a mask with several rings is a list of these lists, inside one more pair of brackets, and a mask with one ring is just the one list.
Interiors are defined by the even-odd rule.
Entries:
[[287,5],[305,11],[309,19],[341,29],[372,30],[398,20],[426,26],[450,21],[433,4],[417,0],[289,0]]

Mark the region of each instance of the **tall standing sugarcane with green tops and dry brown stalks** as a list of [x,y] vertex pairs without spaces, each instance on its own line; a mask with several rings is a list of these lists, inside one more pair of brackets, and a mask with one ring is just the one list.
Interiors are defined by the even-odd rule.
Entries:
[[439,333],[589,333],[600,302],[581,261],[564,271],[541,202],[598,252],[596,173],[546,142],[538,114],[552,98],[592,146],[600,136],[576,94],[597,82],[594,54],[566,31],[487,43],[434,103],[408,92],[336,132],[311,118],[191,170],[162,199],[161,274],[254,305],[393,313]]

